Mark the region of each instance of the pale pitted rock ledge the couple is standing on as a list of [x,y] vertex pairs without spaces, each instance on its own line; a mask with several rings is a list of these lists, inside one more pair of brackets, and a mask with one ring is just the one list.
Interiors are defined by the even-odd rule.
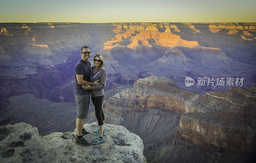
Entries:
[[[90,133],[98,123],[85,124]],[[75,144],[77,131],[55,132],[39,136],[36,127],[24,122],[0,127],[1,162],[145,162],[143,143],[139,136],[123,126],[105,125],[105,142],[98,145]],[[92,141],[95,136],[84,136]]]

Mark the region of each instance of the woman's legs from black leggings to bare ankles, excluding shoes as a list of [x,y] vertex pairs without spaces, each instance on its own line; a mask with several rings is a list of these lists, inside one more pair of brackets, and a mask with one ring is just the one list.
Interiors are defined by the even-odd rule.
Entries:
[[[102,137],[103,129],[104,129],[104,126],[103,126],[104,123],[103,123],[102,113],[101,113],[103,98],[104,98],[104,95],[99,96],[99,97],[92,97],[92,102],[93,102],[93,105],[95,108],[95,116],[98,120],[98,125],[99,125],[99,130],[100,130],[99,136],[100,137]],[[104,114],[103,114],[103,116],[104,116]]]

